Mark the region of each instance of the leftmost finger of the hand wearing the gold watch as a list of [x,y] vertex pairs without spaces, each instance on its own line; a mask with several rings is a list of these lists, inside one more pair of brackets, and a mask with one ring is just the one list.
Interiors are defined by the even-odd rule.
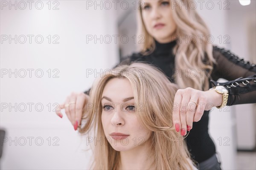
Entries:
[[181,96],[181,90],[177,90],[175,97],[174,97],[174,102],[173,102],[173,109],[172,109],[172,121],[173,125],[175,125],[175,130],[176,132],[180,131],[180,103],[182,100]]

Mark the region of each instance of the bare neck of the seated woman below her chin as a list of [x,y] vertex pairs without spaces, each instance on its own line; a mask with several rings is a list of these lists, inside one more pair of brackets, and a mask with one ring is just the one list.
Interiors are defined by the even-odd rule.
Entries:
[[132,150],[121,151],[121,164],[119,169],[122,170],[145,170],[149,169],[152,163],[151,150],[148,142],[144,146],[137,146]]

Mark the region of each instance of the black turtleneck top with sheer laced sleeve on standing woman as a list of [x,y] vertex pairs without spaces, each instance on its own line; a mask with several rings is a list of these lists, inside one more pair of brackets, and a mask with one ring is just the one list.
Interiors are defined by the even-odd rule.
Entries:
[[[155,41],[155,44],[155,50],[151,54],[142,55],[140,53],[134,53],[128,57],[128,59],[121,62],[121,64],[129,64],[135,61],[150,63],[160,68],[166,76],[169,77],[171,82],[175,82],[172,71],[175,69],[175,54],[173,53],[173,48],[176,45],[176,41],[165,44]],[[251,65],[249,62],[244,62],[243,59],[239,59],[225,49],[214,47],[212,53],[217,63],[214,65],[209,81],[210,79],[217,81],[219,78],[229,80],[229,82],[221,84],[229,91],[227,105],[255,103],[256,66]],[[246,82],[245,79],[232,81],[239,77],[252,78],[248,78],[247,81],[249,83]],[[245,85],[243,83],[245,83]],[[216,82],[214,82],[214,85],[216,85]],[[208,133],[208,123],[209,111],[204,111],[201,120],[193,123],[192,130],[190,130],[189,135],[185,138],[192,158],[199,163],[215,154],[215,145]]]

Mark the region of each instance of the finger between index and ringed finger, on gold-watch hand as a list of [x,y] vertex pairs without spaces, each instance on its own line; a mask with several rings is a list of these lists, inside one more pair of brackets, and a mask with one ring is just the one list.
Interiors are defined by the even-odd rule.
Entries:
[[182,101],[180,104],[180,122],[181,122],[180,133],[182,136],[186,135],[186,130],[187,130],[186,112],[187,112],[187,108],[188,108],[189,99],[190,99],[190,96],[188,96],[187,94],[184,94],[182,96]]

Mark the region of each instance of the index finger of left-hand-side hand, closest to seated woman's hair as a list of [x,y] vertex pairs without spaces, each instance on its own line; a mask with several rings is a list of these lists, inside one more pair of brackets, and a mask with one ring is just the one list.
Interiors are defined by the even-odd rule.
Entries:
[[83,108],[84,105],[87,103],[87,96],[86,94],[79,94],[79,96],[76,99],[76,121],[78,122],[78,125],[81,124],[81,118],[83,114]]

